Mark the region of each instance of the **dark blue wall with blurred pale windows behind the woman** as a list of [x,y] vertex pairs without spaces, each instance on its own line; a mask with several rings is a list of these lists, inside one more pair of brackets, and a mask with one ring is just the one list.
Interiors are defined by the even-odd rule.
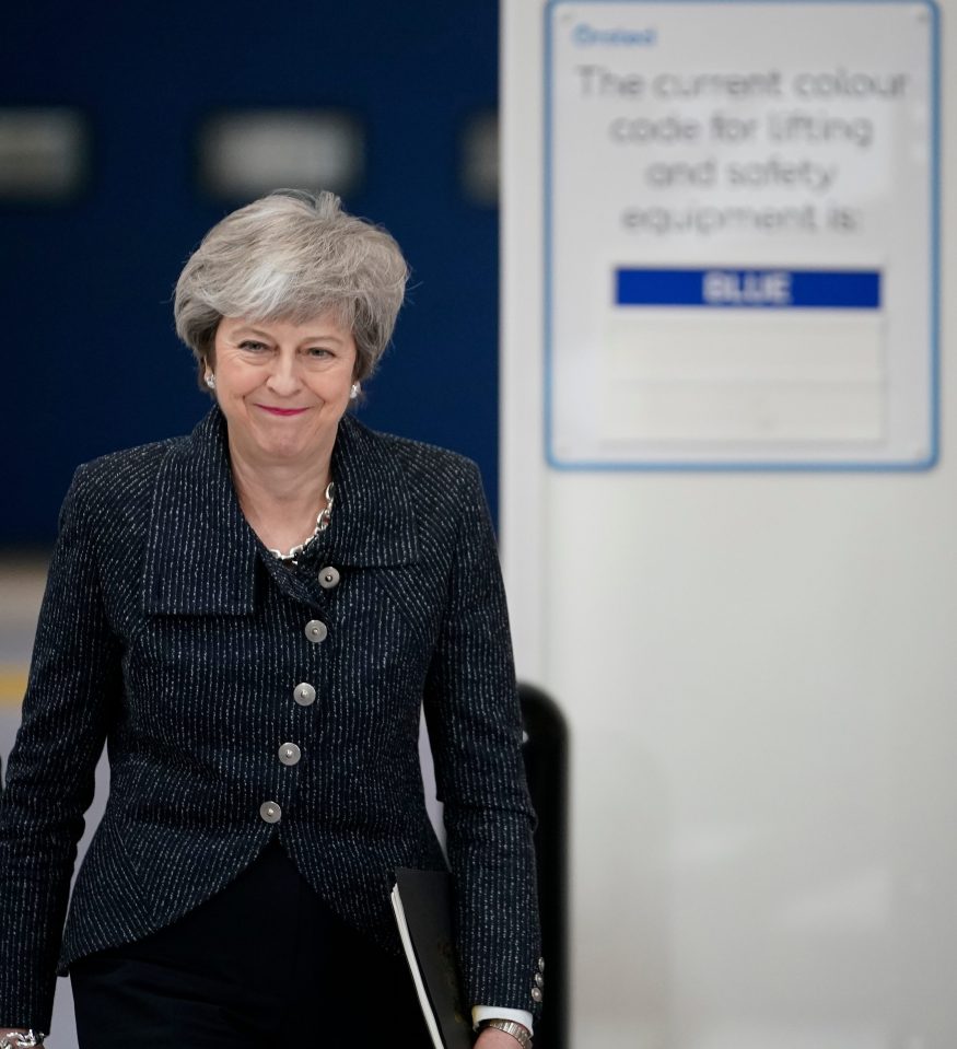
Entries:
[[463,196],[458,150],[497,103],[497,4],[34,0],[3,22],[0,104],[81,107],[93,164],[69,205],[0,203],[0,546],[51,539],[78,463],[206,410],[170,295],[244,202],[205,197],[197,178],[198,129],[222,107],[336,106],[365,127],[346,205],[398,238],[413,276],[361,418],[478,459],[495,509],[498,212]]

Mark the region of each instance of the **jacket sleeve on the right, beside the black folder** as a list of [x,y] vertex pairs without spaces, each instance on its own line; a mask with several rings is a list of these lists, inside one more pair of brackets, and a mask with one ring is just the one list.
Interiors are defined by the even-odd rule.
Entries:
[[448,862],[465,1005],[537,1015],[540,933],[522,718],[495,537],[478,468],[457,493],[446,615],[424,711]]

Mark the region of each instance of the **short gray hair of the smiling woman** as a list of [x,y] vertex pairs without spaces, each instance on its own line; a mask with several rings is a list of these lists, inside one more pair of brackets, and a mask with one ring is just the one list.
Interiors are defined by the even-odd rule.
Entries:
[[331,193],[278,189],[227,214],[176,282],[176,333],[203,372],[223,317],[303,323],[331,313],[355,340],[355,378],[385,351],[409,270],[395,240]]

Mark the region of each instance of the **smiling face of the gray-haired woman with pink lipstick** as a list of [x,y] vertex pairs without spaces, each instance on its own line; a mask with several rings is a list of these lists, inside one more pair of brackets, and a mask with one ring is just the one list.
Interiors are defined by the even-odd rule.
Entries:
[[328,462],[355,371],[352,333],[329,314],[304,324],[223,317],[213,347],[234,453],[267,466]]

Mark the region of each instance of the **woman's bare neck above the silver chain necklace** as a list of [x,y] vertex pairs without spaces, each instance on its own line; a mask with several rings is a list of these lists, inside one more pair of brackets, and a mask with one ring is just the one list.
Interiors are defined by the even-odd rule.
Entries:
[[316,526],[326,505],[331,455],[308,463],[253,462],[230,441],[233,485],[249,526],[270,549],[288,550]]

